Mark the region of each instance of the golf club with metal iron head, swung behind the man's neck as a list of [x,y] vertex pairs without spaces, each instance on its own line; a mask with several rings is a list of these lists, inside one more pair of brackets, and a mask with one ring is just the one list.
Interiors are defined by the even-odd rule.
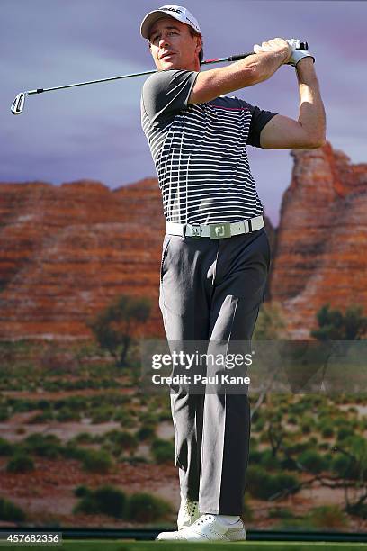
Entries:
[[[292,50],[308,50],[309,45],[307,42],[300,41],[299,39],[287,39],[287,42],[291,44]],[[210,63],[223,63],[225,61],[239,61],[247,56],[254,55],[253,51],[245,54],[236,54],[234,56],[228,56],[228,58],[216,58],[206,59],[201,62],[201,65],[209,65]],[[157,73],[157,69],[150,71],[143,71],[142,73],[131,73],[130,75],[121,75],[119,77],[100,78],[98,80],[87,80],[86,82],[77,82],[76,84],[70,84],[65,86],[54,86],[53,88],[37,88],[36,90],[28,90],[27,92],[21,92],[18,94],[12,104],[11,111],[13,114],[21,114],[24,109],[24,102],[26,95],[41,94],[43,92],[51,92],[52,90],[63,90],[65,88],[73,88],[75,86],[86,86],[89,84],[96,84],[98,82],[108,82],[111,80],[118,80],[120,78],[141,77],[143,75],[152,75]]]

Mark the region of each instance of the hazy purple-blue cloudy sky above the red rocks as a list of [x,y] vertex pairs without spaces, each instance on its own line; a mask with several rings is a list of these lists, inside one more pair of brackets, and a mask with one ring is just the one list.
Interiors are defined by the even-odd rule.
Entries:
[[[156,176],[140,127],[146,77],[32,95],[24,113],[10,105],[23,90],[155,68],[139,25],[151,0],[1,0],[0,181],[54,185],[81,178],[111,188]],[[205,58],[252,50],[276,36],[309,41],[327,110],[327,140],[352,162],[367,162],[367,3],[192,0]],[[209,66],[214,68],[219,66]],[[205,70],[202,68],[202,70]],[[297,118],[294,68],[233,93],[263,109]],[[248,148],[265,212],[278,222],[290,184],[289,150]]]

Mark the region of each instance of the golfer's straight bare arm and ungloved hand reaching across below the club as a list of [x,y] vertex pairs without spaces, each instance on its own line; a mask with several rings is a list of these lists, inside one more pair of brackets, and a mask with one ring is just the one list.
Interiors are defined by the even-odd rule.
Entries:
[[199,73],[188,104],[210,102],[219,95],[263,82],[288,61],[292,51],[290,44],[281,38],[263,42],[262,47],[255,44],[254,50],[262,51],[227,67]]

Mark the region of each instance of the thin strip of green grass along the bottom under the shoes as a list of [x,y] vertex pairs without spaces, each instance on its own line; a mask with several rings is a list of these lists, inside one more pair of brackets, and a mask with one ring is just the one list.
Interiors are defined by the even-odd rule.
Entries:
[[[40,546],[42,549],[48,551],[56,551],[62,549],[62,551],[149,551],[154,546],[163,546],[167,551],[184,551],[187,546],[186,543],[171,543],[163,541],[148,541],[148,542],[135,542],[124,540],[66,540],[64,539],[62,546]],[[227,544],[210,544],[210,548],[215,547],[216,551],[227,551],[235,546],[237,549],[243,549],[244,551],[319,551],[327,549],[327,551],[366,551],[367,544],[362,543],[326,543],[326,542],[228,542]],[[228,547],[229,546],[229,547]],[[1,546],[3,549],[14,549],[22,551],[24,546]],[[208,544],[194,544],[193,547],[205,551],[208,549]]]

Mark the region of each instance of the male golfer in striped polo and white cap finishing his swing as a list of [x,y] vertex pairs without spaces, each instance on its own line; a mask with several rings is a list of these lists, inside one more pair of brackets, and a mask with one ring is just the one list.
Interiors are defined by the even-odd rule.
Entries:
[[[199,23],[183,6],[146,15],[157,73],[142,88],[141,121],[157,169],[166,235],[159,306],[168,342],[251,339],[271,253],[246,145],[316,149],[325,142],[314,58],[282,38],[254,55],[200,71]],[[284,64],[300,86],[298,121],[227,94]],[[171,393],[181,506],[178,531],[157,539],[239,541],[250,437],[247,393]]]

